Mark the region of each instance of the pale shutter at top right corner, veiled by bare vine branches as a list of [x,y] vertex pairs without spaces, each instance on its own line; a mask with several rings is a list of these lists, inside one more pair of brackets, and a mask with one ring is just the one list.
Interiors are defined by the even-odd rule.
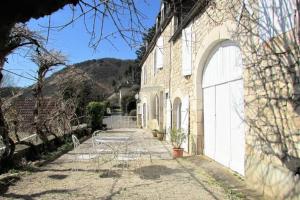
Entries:
[[265,41],[295,27],[296,0],[260,0],[260,38]]

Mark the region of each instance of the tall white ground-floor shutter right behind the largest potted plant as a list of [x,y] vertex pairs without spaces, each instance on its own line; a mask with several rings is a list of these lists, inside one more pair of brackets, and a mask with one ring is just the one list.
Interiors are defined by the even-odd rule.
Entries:
[[182,99],[181,104],[181,129],[185,133],[185,141],[182,143],[184,151],[188,152],[188,132],[189,132],[189,96]]

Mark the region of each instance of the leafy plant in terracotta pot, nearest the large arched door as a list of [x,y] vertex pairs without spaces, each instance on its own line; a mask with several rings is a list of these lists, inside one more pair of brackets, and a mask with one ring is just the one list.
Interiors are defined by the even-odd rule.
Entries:
[[178,158],[183,156],[183,148],[181,148],[182,143],[185,140],[185,134],[181,129],[171,129],[171,143],[173,146],[173,158]]

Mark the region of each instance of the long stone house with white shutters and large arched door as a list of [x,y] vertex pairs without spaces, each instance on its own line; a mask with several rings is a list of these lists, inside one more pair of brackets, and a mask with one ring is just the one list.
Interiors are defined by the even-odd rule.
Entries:
[[187,135],[268,197],[300,199],[299,0],[164,0],[141,62],[145,129]]

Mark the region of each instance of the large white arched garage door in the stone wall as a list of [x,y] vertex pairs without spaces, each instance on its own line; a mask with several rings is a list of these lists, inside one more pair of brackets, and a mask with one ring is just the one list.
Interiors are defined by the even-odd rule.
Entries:
[[211,53],[203,76],[204,153],[244,175],[244,104],[240,49],[224,42]]

